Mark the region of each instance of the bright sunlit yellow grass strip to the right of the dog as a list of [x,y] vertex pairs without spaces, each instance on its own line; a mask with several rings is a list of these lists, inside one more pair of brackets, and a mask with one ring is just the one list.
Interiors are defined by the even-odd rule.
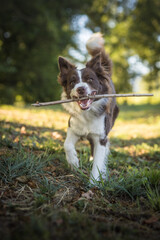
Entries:
[[160,105],[122,106],[111,136],[120,139],[160,136]]

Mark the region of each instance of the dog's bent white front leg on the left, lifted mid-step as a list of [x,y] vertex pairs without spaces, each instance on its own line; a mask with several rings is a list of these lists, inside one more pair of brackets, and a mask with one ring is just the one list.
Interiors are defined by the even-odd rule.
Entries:
[[69,127],[67,130],[67,138],[64,142],[64,149],[66,153],[67,162],[71,165],[72,168],[79,167],[79,161],[75,149],[75,144],[78,141],[78,139],[79,137]]

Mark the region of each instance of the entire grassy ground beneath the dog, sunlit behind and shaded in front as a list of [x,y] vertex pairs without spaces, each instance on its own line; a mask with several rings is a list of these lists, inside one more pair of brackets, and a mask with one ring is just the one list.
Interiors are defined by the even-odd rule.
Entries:
[[0,107],[1,239],[159,239],[160,105],[120,106],[94,187],[87,141],[80,169],[66,163],[67,123],[61,107]]

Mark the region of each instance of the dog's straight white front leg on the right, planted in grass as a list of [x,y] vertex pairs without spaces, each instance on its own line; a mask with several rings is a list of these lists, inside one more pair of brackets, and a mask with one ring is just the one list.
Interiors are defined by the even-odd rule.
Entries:
[[99,136],[93,137],[94,141],[94,154],[93,154],[93,167],[90,176],[90,183],[94,184],[95,180],[99,181],[100,177],[106,178],[106,164],[109,154],[109,142],[102,145]]

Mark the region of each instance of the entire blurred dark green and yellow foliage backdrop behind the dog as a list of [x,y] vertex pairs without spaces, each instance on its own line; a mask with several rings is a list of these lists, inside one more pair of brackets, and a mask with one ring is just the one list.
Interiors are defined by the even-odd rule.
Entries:
[[159,10],[158,0],[0,0],[0,103],[59,98],[57,57],[78,48],[73,23],[84,15],[88,29],[104,33],[117,91],[131,90],[140,74],[133,56],[148,68],[148,88],[158,89]]

